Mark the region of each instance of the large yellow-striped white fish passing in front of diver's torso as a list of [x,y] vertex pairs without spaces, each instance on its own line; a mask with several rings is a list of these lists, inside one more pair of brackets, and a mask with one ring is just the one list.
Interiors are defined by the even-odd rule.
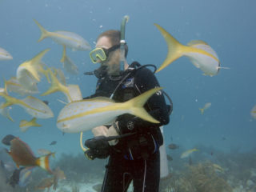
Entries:
[[127,102],[114,102],[110,98],[97,97],[70,102],[58,114],[58,129],[66,133],[79,133],[114,122],[121,114],[134,114],[148,122],[159,123],[143,108],[144,104],[162,88],[154,88]]

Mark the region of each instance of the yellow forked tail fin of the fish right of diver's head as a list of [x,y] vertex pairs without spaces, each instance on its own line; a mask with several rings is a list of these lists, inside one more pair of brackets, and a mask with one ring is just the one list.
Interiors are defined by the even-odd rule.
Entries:
[[156,70],[156,72],[159,72],[166,66],[169,66],[171,62],[174,62],[176,59],[182,57],[184,48],[186,46],[183,46],[180,42],[178,42],[178,40],[176,40],[166,30],[164,30],[162,26],[159,26],[156,23],[154,23],[154,26],[156,26],[158,30],[160,30],[168,46],[168,53],[167,53],[166,59],[164,62],[162,62],[162,65],[158,68],[158,70]]

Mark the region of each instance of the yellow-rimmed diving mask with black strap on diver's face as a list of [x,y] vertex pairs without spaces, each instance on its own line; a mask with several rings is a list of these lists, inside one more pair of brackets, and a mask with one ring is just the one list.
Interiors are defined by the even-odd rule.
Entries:
[[95,48],[90,51],[90,60],[93,63],[104,62],[109,57],[111,51],[117,50],[120,48],[120,45],[111,46],[109,49],[105,48]]

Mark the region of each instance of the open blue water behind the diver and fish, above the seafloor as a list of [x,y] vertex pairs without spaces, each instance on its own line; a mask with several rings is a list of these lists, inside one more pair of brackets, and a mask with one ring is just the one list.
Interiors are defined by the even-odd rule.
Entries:
[[[174,102],[170,124],[164,128],[166,144],[175,142],[185,149],[200,144],[226,152],[252,150],[256,147],[256,120],[250,116],[250,110],[256,105],[255,6],[254,0],[0,0],[0,46],[14,57],[0,62],[0,86],[4,86],[3,78],[16,75],[22,62],[46,48],[51,50],[43,61],[62,69],[59,61],[62,46],[49,38],[37,42],[40,31],[33,18],[46,30],[69,30],[94,46],[98,34],[119,29],[122,17],[128,14],[128,62],[162,64],[167,46],[154,26],[158,23],[183,44],[192,39],[207,42],[217,52],[221,65],[230,67],[209,77],[202,75],[187,58],[179,58],[156,74]],[[67,54],[78,66],[79,74],[74,76],[64,71],[66,81],[78,84],[84,97],[93,94],[97,79],[83,75],[84,71],[98,67],[90,62],[89,52],[67,50]],[[38,86],[41,93],[47,90],[46,79]],[[44,148],[56,151],[57,155],[82,153],[78,134],[62,135],[56,126],[58,112],[63,107],[57,99],[64,100],[63,94],[35,97],[50,102],[54,118],[38,119],[42,127],[31,127],[22,133],[18,127],[20,120],[31,117],[21,107],[12,106],[10,115],[15,122],[0,117],[1,139],[6,134],[14,134],[34,151]],[[206,102],[212,106],[202,115],[198,108]],[[92,134],[86,133],[84,138],[90,137]],[[57,144],[50,146],[54,140]]]

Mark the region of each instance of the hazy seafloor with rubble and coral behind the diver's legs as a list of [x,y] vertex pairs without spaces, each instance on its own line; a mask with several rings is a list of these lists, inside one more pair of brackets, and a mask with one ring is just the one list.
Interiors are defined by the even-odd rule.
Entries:
[[[189,160],[181,159],[173,153],[173,160],[169,162],[170,174],[162,178],[160,192],[256,191],[255,150],[246,153],[238,151],[224,153],[214,150],[214,155],[206,154],[209,153],[194,154],[192,160]],[[57,190],[53,190],[51,186],[49,191],[100,191],[106,162],[98,159],[90,161],[83,154],[62,154],[60,158],[54,160],[52,166],[63,170],[66,179],[58,181]],[[47,191],[47,188],[36,190],[35,187],[42,178],[48,177],[50,175],[46,171],[35,169],[31,182],[26,187],[16,186],[14,191]],[[132,191],[132,187],[129,191]]]

